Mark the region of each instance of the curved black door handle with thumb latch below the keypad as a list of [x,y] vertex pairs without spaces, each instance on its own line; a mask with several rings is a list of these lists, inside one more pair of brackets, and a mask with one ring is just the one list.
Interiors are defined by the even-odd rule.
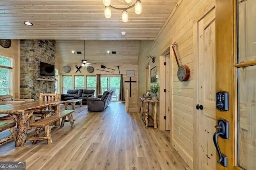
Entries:
[[219,155],[219,160],[217,160],[217,162],[222,166],[227,167],[228,158],[220,151],[220,147],[218,145],[218,137],[220,136],[223,139],[229,139],[229,122],[225,119],[218,119],[218,125],[216,125],[215,128],[218,129],[213,135],[213,143]]

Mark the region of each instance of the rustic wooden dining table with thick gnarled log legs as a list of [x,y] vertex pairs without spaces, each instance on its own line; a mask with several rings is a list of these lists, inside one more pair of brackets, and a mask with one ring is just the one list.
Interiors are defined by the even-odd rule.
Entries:
[[[26,145],[28,123],[33,112],[38,109],[51,109],[54,113],[60,112],[60,104],[63,101],[44,101],[44,102],[23,102],[0,105],[0,114],[8,114],[17,123],[15,147],[22,148]],[[59,126],[60,122],[56,122],[55,126]]]

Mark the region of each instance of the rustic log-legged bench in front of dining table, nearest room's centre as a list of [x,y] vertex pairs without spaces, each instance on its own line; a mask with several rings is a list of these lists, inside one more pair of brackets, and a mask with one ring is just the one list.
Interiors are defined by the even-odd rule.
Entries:
[[[51,136],[51,129],[52,124],[62,118],[61,127],[64,126],[65,119],[68,116],[68,119],[70,120],[71,127],[75,127],[74,119],[72,113],[74,110],[64,110],[61,111],[59,114],[55,114],[49,117],[46,117],[45,119],[38,120],[36,122],[30,123],[30,127],[36,127],[34,137],[29,137],[28,140],[33,141],[33,144],[36,144],[37,141],[47,140],[47,144],[52,143],[52,136]],[[41,127],[44,127],[45,136],[39,137],[40,129]]]

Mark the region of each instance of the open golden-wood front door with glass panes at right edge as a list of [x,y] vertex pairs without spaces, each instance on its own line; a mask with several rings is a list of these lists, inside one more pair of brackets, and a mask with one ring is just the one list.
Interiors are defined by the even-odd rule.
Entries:
[[229,106],[216,110],[218,121],[229,122],[228,130],[216,129],[229,134],[218,137],[217,160],[225,156],[226,164],[216,161],[216,170],[256,169],[255,9],[255,0],[216,0],[216,91],[228,92]]

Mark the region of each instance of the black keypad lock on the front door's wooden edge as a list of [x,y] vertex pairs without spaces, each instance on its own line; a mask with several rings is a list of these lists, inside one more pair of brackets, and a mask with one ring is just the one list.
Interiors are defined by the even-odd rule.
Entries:
[[216,93],[216,107],[221,111],[228,111],[228,92]]

